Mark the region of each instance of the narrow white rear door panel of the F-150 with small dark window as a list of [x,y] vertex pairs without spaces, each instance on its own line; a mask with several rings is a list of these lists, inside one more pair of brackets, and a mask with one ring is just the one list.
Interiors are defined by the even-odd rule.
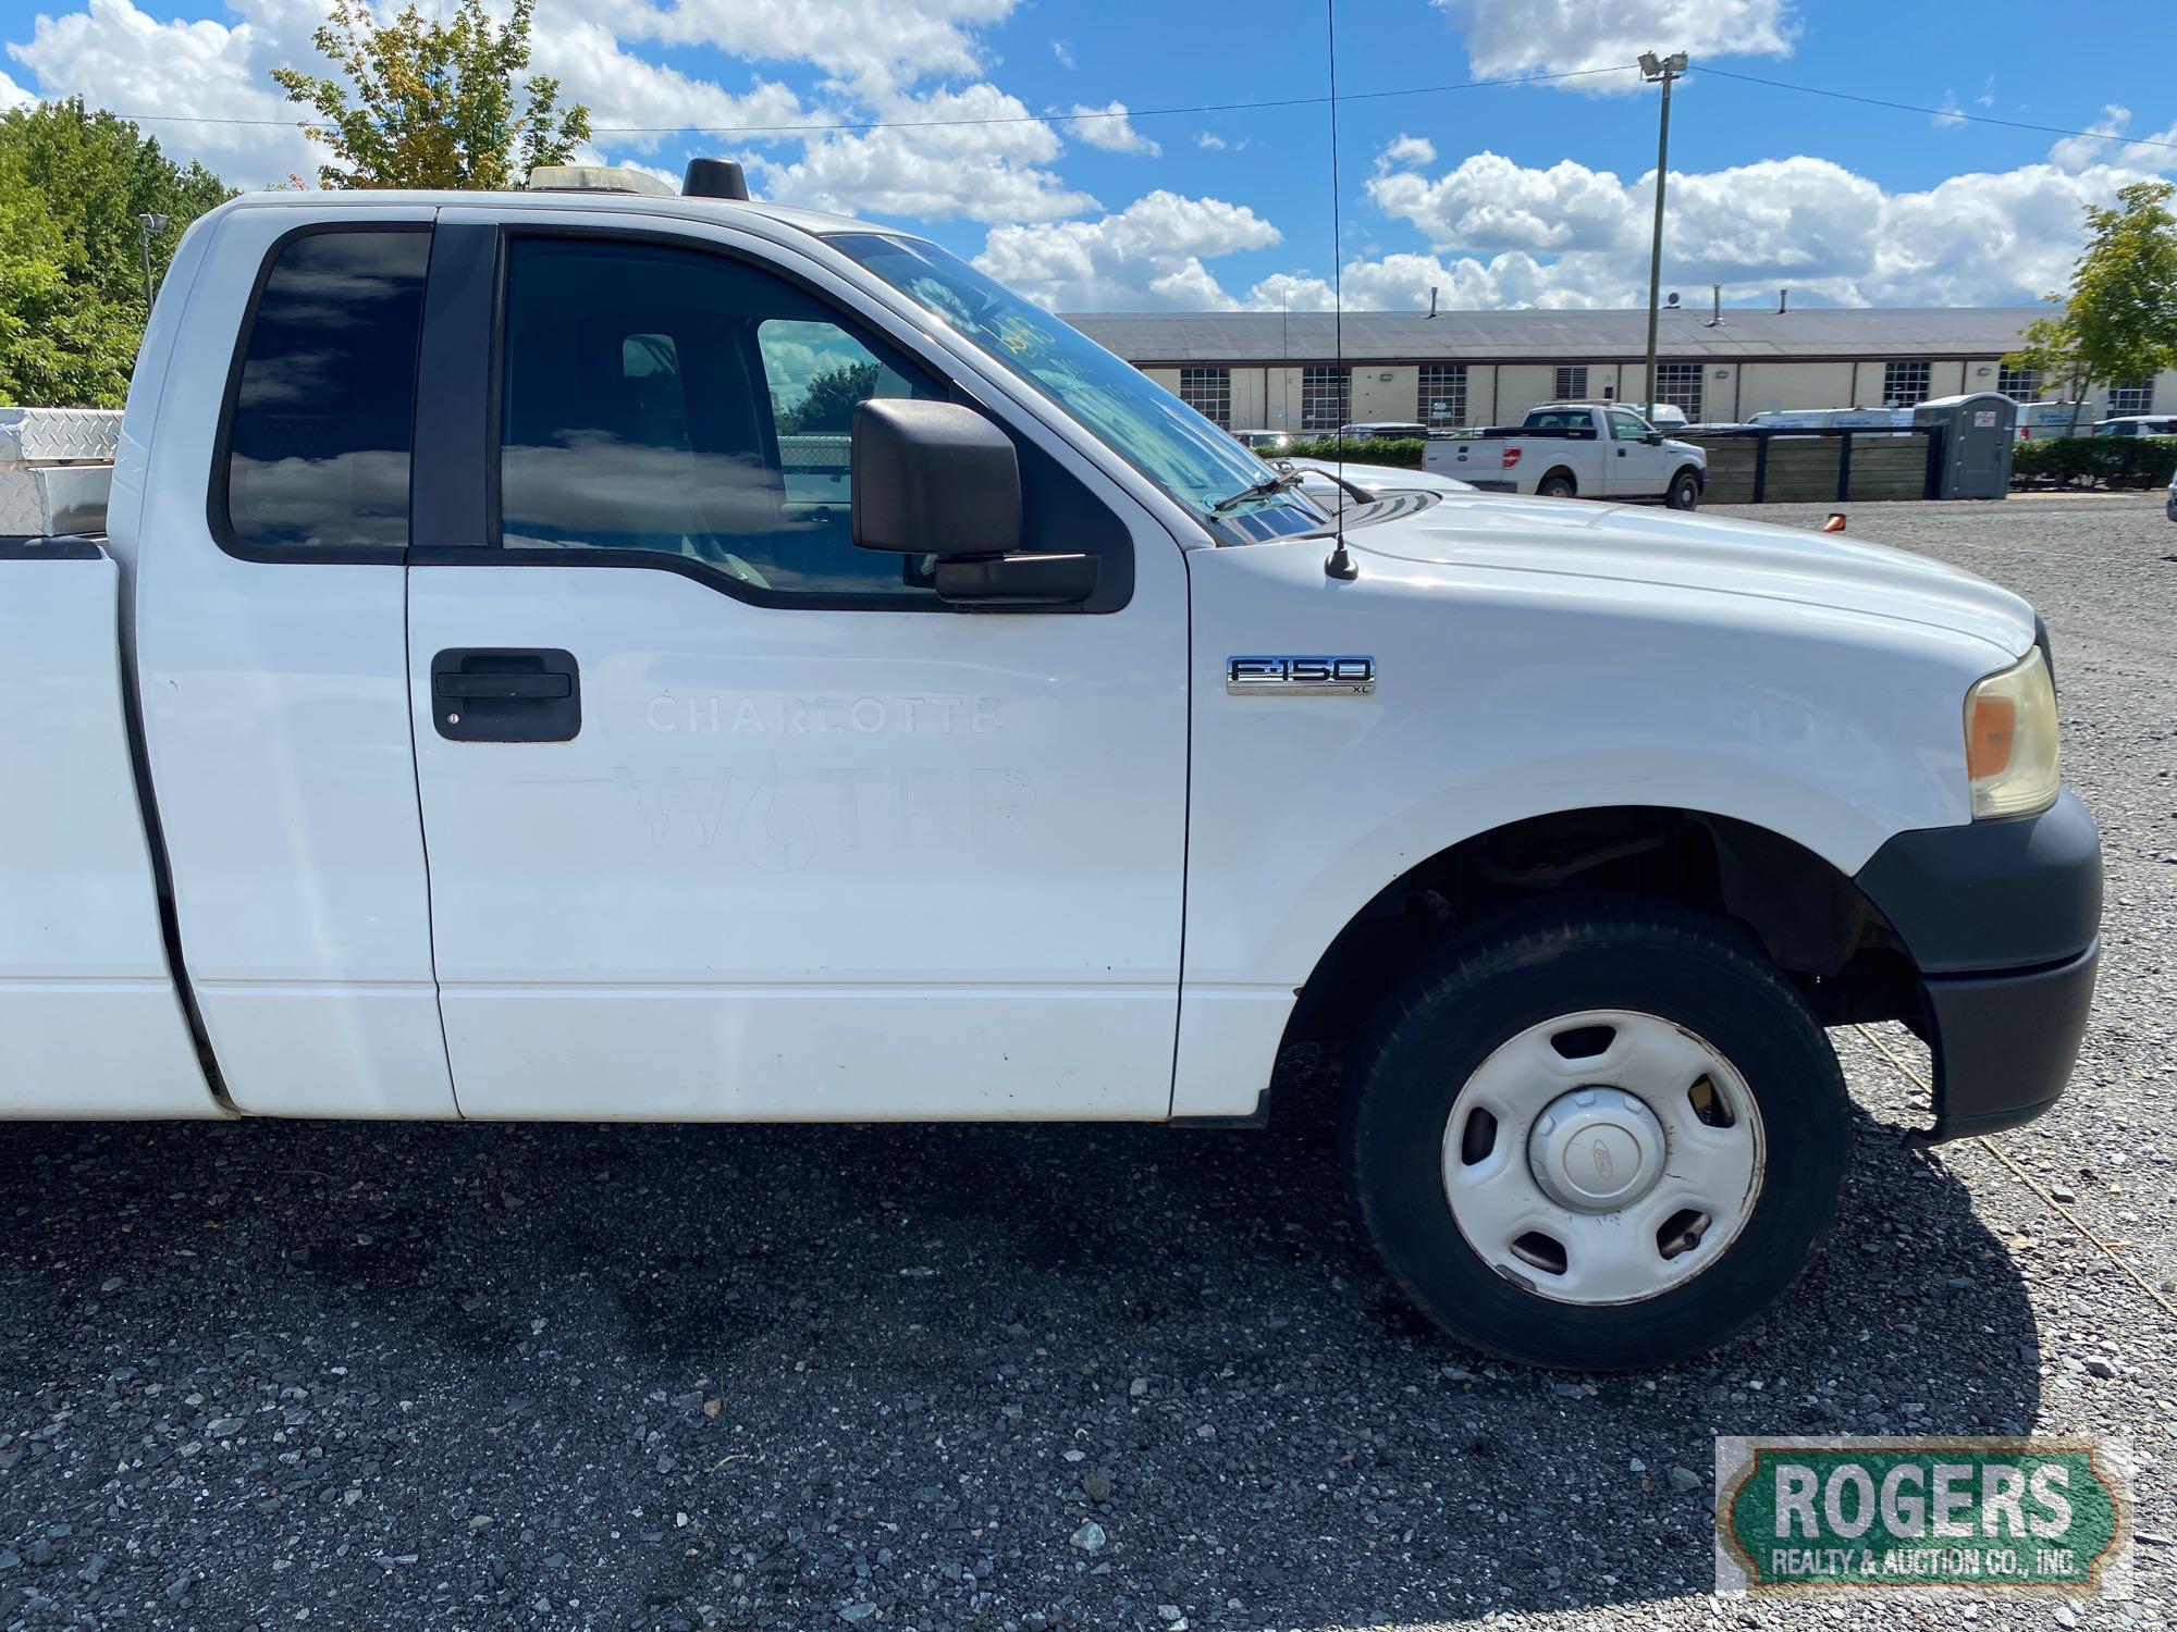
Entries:
[[115,490],[181,962],[242,1110],[453,1116],[401,566],[433,209],[298,215],[194,228]]

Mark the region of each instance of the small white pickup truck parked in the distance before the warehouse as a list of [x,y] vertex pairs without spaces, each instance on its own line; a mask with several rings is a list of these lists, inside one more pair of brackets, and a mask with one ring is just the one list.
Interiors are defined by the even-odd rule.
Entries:
[[1543,403],[1517,426],[1430,437],[1422,468],[1485,492],[1543,498],[1659,498],[1700,505],[1709,455],[1622,403]]

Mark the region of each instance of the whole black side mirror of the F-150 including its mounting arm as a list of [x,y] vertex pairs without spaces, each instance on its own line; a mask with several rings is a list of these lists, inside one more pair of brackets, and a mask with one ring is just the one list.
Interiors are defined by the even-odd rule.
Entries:
[[1073,605],[1093,555],[1021,555],[1012,440],[958,403],[873,396],[853,409],[851,527],[864,551],[938,557],[940,598],[982,607]]

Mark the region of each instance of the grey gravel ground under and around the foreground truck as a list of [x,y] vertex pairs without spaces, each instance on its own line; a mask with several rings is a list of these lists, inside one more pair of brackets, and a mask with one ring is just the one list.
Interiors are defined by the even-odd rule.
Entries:
[[[1996,1145],[2170,1288],[2177,527],[1853,533],[2049,616],[2107,957],[2073,1095]],[[2162,1625],[2177,1321],[1988,1147],[1907,1149],[1911,1088],[1840,1047],[1831,1251],[1639,1377],[1426,1330],[1293,1118],[0,1129],[0,1623]],[[1707,1593],[1713,1434],[2022,1430],[2136,1441],[2129,1606]]]

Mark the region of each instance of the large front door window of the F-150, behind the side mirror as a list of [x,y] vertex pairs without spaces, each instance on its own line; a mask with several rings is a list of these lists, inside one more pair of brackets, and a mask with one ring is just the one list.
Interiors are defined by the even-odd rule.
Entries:
[[657,551],[777,594],[932,601],[849,533],[869,396],[938,396],[768,272],[701,250],[514,239],[499,516],[509,548]]

